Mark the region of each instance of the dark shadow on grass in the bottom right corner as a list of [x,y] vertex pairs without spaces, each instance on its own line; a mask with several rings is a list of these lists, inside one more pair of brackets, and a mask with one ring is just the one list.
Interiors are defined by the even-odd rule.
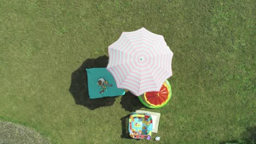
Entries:
[[220,142],[223,143],[237,143],[237,144],[253,144],[256,143],[256,127],[246,128],[246,131],[242,133],[242,140],[232,140],[228,142]]

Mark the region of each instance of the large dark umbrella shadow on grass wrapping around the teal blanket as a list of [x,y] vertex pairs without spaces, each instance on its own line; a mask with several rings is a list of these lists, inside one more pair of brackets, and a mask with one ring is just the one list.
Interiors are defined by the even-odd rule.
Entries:
[[71,75],[71,86],[69,92],[73,95],[75,104],[88,107],[90,110],[102,106],[111,106],[114,104],[116,97],[104,97],[99,99],[90,99],[88,93],[88,78],[86,68],[106,68],[108,57],[101,56],[96,59],[87,59]]

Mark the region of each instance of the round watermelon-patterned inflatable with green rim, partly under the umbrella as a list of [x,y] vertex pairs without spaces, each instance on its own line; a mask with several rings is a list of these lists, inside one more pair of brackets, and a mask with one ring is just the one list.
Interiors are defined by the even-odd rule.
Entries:
[[172,89],[170,82],[166,80],[159,92],[146,92],[140,95],[139,101],[151,109],[158,109],[165,106],[170,101],[172,95]]

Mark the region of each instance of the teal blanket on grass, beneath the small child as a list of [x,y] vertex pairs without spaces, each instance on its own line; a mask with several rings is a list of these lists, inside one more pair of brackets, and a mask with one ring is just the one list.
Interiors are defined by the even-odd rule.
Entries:
[[[118,95],[124,95],[124,89],[117,87],[114,77],[109,73],[107,68],[91,68],[86,69],[88,76],[88,91],[90,99],[103,98],[103,97],[114,97]],[[102,92],[103,88],[97,85],[98,79],[103,78],[107,81],[105,91]]]

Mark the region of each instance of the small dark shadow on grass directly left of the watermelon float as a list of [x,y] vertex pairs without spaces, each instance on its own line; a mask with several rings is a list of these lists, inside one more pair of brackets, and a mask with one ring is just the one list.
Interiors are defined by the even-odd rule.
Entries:
[[135,110],[145,107],[141,101],[139,101],[138,97],[131,92],[126,92],[125,95],[122,96],[120,104],[123,109],[130,112],[135,112]]

